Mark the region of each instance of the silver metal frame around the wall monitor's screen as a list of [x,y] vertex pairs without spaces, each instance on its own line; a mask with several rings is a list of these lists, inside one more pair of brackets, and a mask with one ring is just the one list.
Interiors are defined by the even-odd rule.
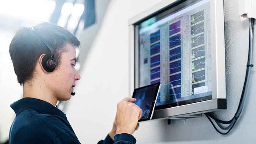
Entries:
[[[130,52],[130,85],[129,95],[138,88],[138,25],[137,23],[154,14],[171,7],[176,2],[186,0],[163,0],[140,14],[129,19],[129,52]],[[225,41],[224,41],[224,6],[223,0],[210,0],[210,26],[211,26],[211,56],[212,56],[212,100],[206,100],[188,105],[176,106],[155,110],[153,119],[167,119],[185,117],[193,114],[212,112],[226,109],[226,82],[225,82]],[[137,33],[136,33],[137,32]]]

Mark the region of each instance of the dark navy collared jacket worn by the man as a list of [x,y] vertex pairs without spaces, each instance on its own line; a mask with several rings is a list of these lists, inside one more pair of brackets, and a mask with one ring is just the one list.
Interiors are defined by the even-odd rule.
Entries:
[[[9,144],[80,144],[66,114],[46,101],[22,98],[11,104],[16,117],[10,128]],[[109,135],[98,144],[135,144],[130,134]]]

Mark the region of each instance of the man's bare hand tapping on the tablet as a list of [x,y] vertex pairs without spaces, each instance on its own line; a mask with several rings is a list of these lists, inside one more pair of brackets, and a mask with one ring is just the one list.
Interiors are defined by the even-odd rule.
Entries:
[[116,119],[112,129],[114,131],[116,127],[116,134],[133,134],[138,129],[138,120],[142,116],[142,109],[133,103],[135,101],[135,98],[127,97],[117,104]]

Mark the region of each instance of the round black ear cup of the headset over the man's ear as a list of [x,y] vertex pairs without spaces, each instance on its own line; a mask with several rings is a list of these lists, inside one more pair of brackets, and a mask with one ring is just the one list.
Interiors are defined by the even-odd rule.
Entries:
[[51,58],[50,55],[46,54],[42,58],[42,65],[44,70],[47,72],[53,72],[57,66],[57,61],[54,58]]

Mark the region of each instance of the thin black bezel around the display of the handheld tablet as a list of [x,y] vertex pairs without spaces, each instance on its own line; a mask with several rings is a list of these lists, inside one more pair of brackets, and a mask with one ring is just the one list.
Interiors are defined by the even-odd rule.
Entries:
[[157,83],[155,83],[155,84],[151,84],[151,85],[139,87],[139,88],[137,88],[137,89],[134,89],[134,91],[133,91],[133,96],[132,96],[132,98],[135,97],[135,91],[140,90],[140,89],[144,89],[144,88],[146,88],[146,87],[154,86],[154,85],[156,85],[156,89],[157,89],[157,90],[155,91],[153,101],[151,102],[151,109],[150,109],[150,112],[149,112],[149,117],[146,118],[146,119],[139,119],[139,122],[148,121],[148,120],[152,119],[153,114],[154,114],[154,110],[155,110],[156,101],[157,101],[157,96],[158,96],[159,91],[160,91],[161,82],[157,82]]

